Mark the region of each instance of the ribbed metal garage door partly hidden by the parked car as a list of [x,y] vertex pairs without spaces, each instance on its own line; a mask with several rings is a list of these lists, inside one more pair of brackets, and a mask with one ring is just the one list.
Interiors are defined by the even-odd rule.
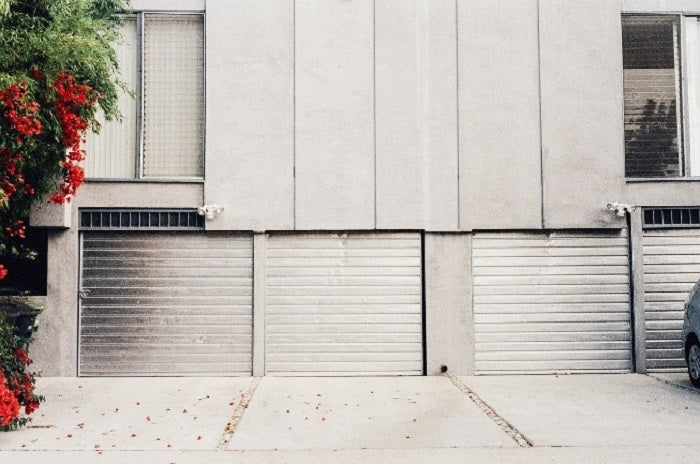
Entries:
[[647,370],[685,370],[683,305],[700,279],[700,229],[646,230],[644,318]]

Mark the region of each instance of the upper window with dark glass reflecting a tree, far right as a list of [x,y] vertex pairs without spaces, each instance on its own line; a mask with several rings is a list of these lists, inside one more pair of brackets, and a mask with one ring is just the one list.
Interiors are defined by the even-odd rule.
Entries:
[[700,22],[625,15],[625,175],[700,176]]

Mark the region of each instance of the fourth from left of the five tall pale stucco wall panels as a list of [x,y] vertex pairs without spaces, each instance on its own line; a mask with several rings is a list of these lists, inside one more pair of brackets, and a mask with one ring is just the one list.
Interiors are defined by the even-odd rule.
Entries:
[[462,227],[538,229],[537,1],[460,2],[458,46]]

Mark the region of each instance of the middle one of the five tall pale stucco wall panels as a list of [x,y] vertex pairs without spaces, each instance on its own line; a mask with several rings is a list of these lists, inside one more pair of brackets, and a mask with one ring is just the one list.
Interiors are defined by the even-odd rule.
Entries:
[[376,2],[377,227],[455,230],[454,0]]

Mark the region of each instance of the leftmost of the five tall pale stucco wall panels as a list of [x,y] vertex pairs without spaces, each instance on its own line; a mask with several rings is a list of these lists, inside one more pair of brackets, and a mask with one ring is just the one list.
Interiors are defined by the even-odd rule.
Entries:
[[209,229],[294,227],[294,10],[209,0],[205,198]]

